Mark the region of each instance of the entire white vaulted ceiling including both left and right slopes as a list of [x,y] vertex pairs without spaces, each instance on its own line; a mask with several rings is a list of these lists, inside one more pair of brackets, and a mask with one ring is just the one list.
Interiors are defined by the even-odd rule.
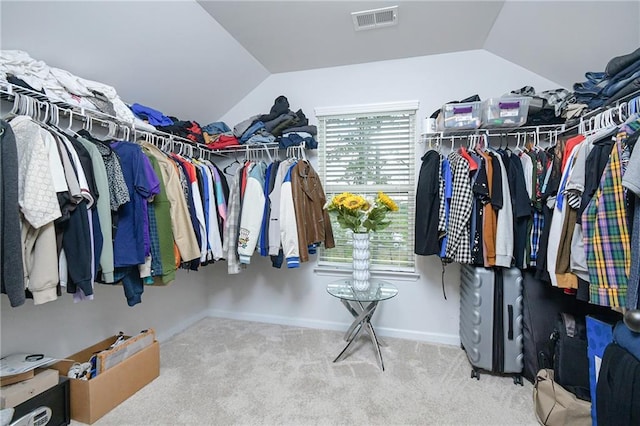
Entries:
[[[351,12],[391,5],[398,25],[354,30]],[[2,0],[0,15],[2,49],[203,122],[273,73],[485,49],[571,87],[640,46],[638,1]]]

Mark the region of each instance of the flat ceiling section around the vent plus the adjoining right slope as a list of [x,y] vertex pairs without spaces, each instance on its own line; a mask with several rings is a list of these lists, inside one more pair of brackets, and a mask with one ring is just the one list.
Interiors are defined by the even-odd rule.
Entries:
[[[199,3],[272,73],[486,49],[570,87],[640,46],[638,1]],[[393,5],[397,26],[354,30],[351,12]]]

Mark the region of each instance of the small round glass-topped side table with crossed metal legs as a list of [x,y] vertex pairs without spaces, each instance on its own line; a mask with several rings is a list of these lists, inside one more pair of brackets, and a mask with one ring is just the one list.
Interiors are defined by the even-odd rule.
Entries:
[[347,345],[344,347],[340,355],[333,360],[337,362],[341,360],[347,353],[347,350],[351,347],[356,338],[366,331],[371,338],[373,347],[378,357],[378,365],[382,371],[384,371],[384,362],[382,361],[382,352],[380,352],[380,343],[376,337],[376,332],[371,324],[371,317],[373,316],[378,303],[383,300],[391,299],[398,294],[398,288],[393,284],[383,281],[372,279],[370,280],[371,286],[368,290],[357,291],[353,289],[351,285],[351,279],[342,279],[338,281],[332,281],[327,285],[327,292],[340,299],[342,304],[353,315],[353,323],[344,335],[344,340]]

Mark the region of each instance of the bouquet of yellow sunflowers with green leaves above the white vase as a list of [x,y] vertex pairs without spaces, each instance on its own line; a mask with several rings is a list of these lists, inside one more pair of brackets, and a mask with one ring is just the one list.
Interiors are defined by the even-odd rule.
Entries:
[[391,221],[387,220],[387,213],[398,211],[398,205],[384,192],[378,192],[373,201],[343,192],[331,199],[327,211],[336,214],[342,228],[356,233],[376,232],[389,226]]

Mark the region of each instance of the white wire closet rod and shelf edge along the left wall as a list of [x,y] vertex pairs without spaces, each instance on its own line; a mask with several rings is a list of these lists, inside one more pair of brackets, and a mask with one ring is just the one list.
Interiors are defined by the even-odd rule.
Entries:
[[[22,86],[18,86],[16,84],[13,83],[9,83],[7,81],[3,81],[0,80],[0,98],[3,99],[7,99],[9,101],[13,100],[13,97],[16,96],[16,94],[20,95],[20,96],[27,96],[30,98],[33,98],[39,102],[44,102],[47,103],[49,105],[55,105],[58,108],[64,110],[64,111],[70,111],[71,112],[71,116],[76,116],[78,118],[80,118],[82,121],[86,121],[86,120],[97,120],[99,122],[105,123],[105,122],[113,122],[114,124],[124,128],[128,129],[128,133],[130,135],[133,135],[133,137],[137,137],[137,136],[143,136],[145,134],[150,134],[150,135],[154,135],[156,137],[162,137],[165,139],[165,142],[167,143],[172,143],[172,142],[179,142],[181,144],[186,144],[186,145],[190,145],[192,146],[194,149],[197,149],[198,152],[203,153],[209,153],[209,154],[213,154],[213,155],[222,155],[225,153],[229,153],[229,152],[236,152],[236,153],[244,153],[247,150],[250,149],[254,149],[254,147],[259,147],[259,148],[277,148],[278,144],[277,143],[271,143],[271,144],[260,144],[260,145],[239,145],[237,148],[233,148],[233,149],[212,149],[210,147],[208,147],[207,145],[204,144],[200,144],[197,142],[194,142],[192,140],[189,140],[187,138],[183,138],[180,136],[176,136],[173,135],[171,133],[167,133],[167,132],[163,132],[161,130],[150,130],[150,129],[146,129],[146,128],[137,128],[135,126],[135,123],[128,123],[126,121],[123,121],[121,119],[119,119],[118,117],[114,117],[110,114],[104,113],[102,111],[97,111],[97,110],[92,110],[92,109],[87,109],[84,107],[78,107],[78,106],[74,106],[71,104],[68,104],[66,102],[63,101],[57,101],[57,100],[52,100],[50,99],[48,96],[44,95],[43,93],[40,92],[36,92],[34,90],[30,90],[27,89],[25,87]],[[123,131],[124,133],[124,131]],[[224,155],[223,155],[224,156]]]

